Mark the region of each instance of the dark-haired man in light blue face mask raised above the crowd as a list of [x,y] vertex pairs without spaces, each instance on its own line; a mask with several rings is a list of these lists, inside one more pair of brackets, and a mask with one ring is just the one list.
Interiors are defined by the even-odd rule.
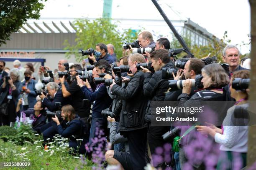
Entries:
[[111,63],[115,62],[113,57],[111,55],[109,55],[109,53],[108,53],[107,45],[105,45],[103,43],[99,43],[95,46],[95,50],[97,52],[96,58],[93,54],[88,56],[89,57],[89,62],[90,62],[91,65],[93,65],[95,62],[97,62],[99,60],[107,60],[108,64],[111,64]]

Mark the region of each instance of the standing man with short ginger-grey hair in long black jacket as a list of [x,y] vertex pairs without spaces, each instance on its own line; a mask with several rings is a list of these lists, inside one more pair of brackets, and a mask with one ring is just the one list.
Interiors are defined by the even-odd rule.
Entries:
[[128,85],[123,88],[115,84],[110,85],[112,95],[118,95],[123,100],[120,113],[120,135],[128,138],[131,162],[133,170],[142,170],[146,166],[146,134],[147,125],[144,121],[146,98],[143,95],[144,73],[137,70],[137,63],[145,63],[141,54],[133,54],[129,57],[128,65],[133,73]]

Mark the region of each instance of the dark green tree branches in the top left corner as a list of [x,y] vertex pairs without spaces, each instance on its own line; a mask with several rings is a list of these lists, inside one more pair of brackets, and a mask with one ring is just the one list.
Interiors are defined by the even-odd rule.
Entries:
[[10,34],[18,31],[28,19],[39,19],[42,3],[46,0],[1,0],[0,46],[10,40]]

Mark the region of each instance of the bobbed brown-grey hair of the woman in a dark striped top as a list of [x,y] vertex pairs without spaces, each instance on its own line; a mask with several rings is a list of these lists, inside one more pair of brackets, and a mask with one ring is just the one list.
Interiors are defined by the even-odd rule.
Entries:
[[229,83],[229,77],[224,68],[217,64],[212,63],[202,68],[202,72],[205,72],[211,77],[212,84],[210,87],[224,87]]

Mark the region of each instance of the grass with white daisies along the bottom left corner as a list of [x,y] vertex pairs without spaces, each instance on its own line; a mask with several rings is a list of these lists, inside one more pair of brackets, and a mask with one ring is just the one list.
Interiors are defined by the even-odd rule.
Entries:
[[[89,160],[81,161],[77,156],[69,154],[67,148],[54,146],[44,150],[41,143],[25,143],[23,146],[13,142],[0,140],[0,162],[29,162],[31,166],[26,170],[91,170],[93,163]],[[54,151],[53,151],[54,150]],[[20,167],[2,168],[20,170]]]

